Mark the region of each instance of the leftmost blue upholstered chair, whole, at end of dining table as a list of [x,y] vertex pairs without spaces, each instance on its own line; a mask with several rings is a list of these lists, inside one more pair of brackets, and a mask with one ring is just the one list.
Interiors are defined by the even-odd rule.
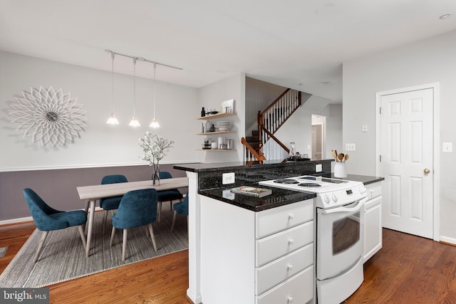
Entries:
[[41,248],[43,247],[46,236],[49,231],[66,229],[72,226],[78,226],[79,234],[83,240],[84,251],[86,251],[86,236],[84,236],[83,225],[86,224],[87,214],[83,210],[75,211],[58,211],[48,206],[41,197],[32,189],[24,189],[24,196],[27,201],[28,209],[35,222],[36,228],[43,231],[41,239],[36,249],[34,262],[38,261]]

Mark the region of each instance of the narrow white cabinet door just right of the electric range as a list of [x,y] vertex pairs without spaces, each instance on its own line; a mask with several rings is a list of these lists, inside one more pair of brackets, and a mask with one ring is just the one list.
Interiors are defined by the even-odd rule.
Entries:
[[366,188],[369,200],[364,204],[364,263],[382,248],[381,183],[367,184]]

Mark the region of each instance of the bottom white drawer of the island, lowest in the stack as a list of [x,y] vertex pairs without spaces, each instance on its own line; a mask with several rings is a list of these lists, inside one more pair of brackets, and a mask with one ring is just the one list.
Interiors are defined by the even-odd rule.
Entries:
[[257,304],[307,303],[314,298],[314,266],[257,297]]

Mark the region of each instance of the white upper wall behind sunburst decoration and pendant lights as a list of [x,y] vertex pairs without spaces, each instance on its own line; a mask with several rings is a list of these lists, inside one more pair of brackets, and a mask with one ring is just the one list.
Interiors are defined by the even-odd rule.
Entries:
[[[147,64],[147,63],[143,63]],[[133,65],[133,64],[132,64]],[[150,65],[150,64],[149,64]],[[137,64],[137,71],[142,68]],[[147,66],[145,68],[150,68]],[[157,66],[157,75],[159,74]],[[195,162],[198,154],[189,126],[195,125],[199,116],[197,89],[156,83],[156,118],[160,129],[148,125],[152,120],[152,80],[136,78],[136,115],[141,127],[128,126],[133,116],[133,77],[115,74],[114,112],[120,125],[106,125],[111,107],[111,73],[83,68],[76,65],[56,63],[37,58],[0,52],[0,136],[3,147],[0,157],[0,171],[23,169],[49,169],[61,167],[103,167],[123,164],[144,164],[140,161],[141,149],[138,139],[145,131],[156,132],[162,137],[174,140],[170,154],[163,163]],[[43,86],[63,89],[78,98],[86,110],[87,127],[81,138],[65,147],[42,146],[23,137],[24,131],[16,131],[19,125],[12,124],[14,118],[9,112],[14,109],[15,97],[23,91]],[[196,130],[196,128],[195,128]]]

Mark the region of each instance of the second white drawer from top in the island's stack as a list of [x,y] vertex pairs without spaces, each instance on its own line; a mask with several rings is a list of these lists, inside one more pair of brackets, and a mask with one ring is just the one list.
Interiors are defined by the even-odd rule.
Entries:
[[314,242],[314,221],[257,240],[256,267]]

